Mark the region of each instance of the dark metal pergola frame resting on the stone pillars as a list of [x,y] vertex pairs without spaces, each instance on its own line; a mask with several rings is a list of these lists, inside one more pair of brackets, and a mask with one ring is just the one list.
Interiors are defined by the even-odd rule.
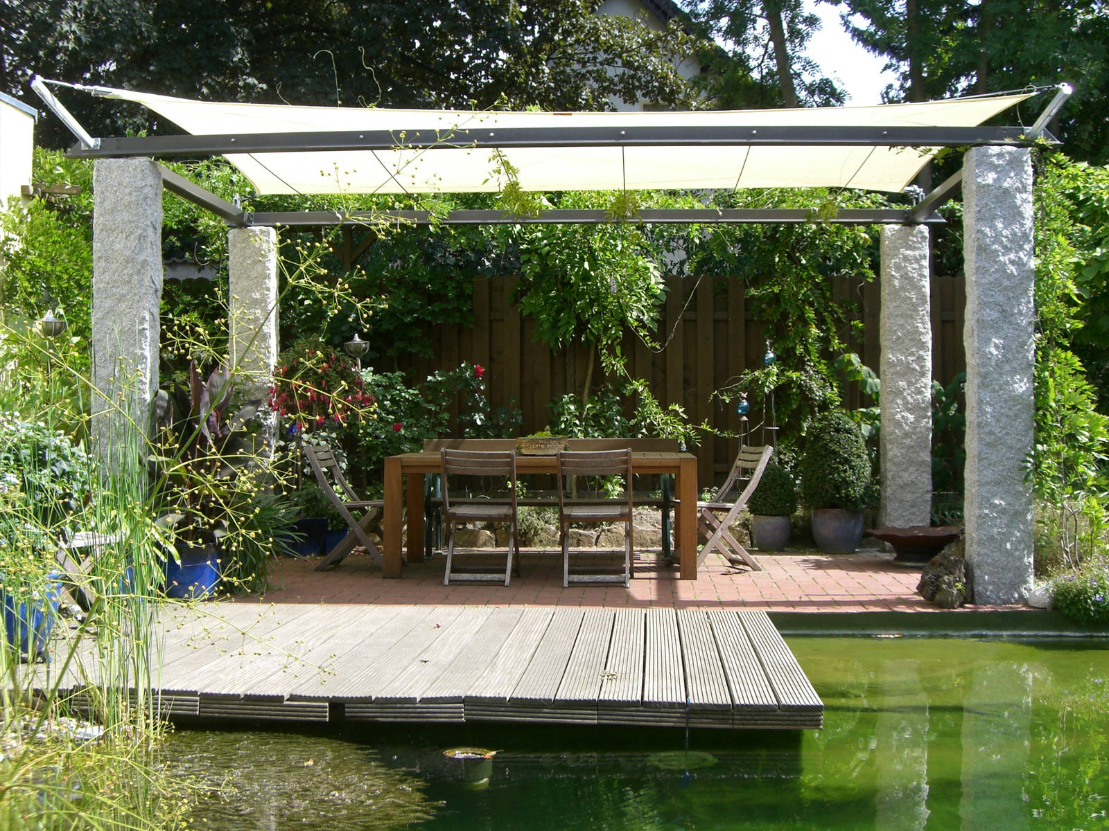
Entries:
[[[393,131],[321,131],[303,133],[247,133],[220,135],[166,135],[92,137],[44,86],[41,79],[32,88],[47,105],[77,135],[68,155],[75,158],[201,157],[288,152],[396,151],[400,147],[495,148],[495,147],[644,147],[644,146],[862,146],[862,147],[969,147],[1030,146],[1041,141],[1058,143],[1047,132],[1072,88],[1060,84],[1055,98],[1030,127],[1020,126],[612,126],[612,127],[506,127]],[[90,88],[95,89],[95,88]],[[160,165],[167,191],[215,214],[231,227],[368,226],[383,219],[397,225],[589,225],[612,222],[669,224],[801,224],[815,219],[813,211],[783,208],[671,208],[643,209],[632,217],[613,218],[604,211],[543,211],[521,216],[497,209],[456,209],[441,216],[427,211],[246,212],[237,205]],[[820,222],[838,225],[936,225],[936,214],[962,187],[962,171],[904,209],[855,208],[840,211]]]

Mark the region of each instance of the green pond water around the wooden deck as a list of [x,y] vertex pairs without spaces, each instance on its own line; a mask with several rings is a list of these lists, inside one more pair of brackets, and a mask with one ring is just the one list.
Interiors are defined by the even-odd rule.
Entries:
[[[235,829],[1109,829],[1109,643],[787,639],[824,729],[180,728]],[[444,750],[497,750],[490,762]],[[227,788],[233,792],[227,792]]]

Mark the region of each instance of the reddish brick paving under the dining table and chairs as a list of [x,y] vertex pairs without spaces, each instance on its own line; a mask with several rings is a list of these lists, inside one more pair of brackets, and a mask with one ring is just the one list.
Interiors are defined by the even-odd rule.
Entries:
[[[917,568],[893,563],[893,554],[859,551],[828,555],[795,551],[755,555],[765,571],[736,568],[710,554],[695,581],[678,579],[675,566],[650,554],[637,562],[630,588],[573,585],[562,588],[561,557],[525,554],[511,585],[442,585],[444,558],[406,565],[401,579],[383,579],[374,561],[358,553],[329,572],[314,560],[282,560],[266,603],[460,604],[491,606],[739,606],[767,612],[926,612],[936,607],[916,594]],[[503,563],[503,560],[501,560]],[[250,598],[240,598],[247,601]],[[255,602],[257,598],[254,598]]]

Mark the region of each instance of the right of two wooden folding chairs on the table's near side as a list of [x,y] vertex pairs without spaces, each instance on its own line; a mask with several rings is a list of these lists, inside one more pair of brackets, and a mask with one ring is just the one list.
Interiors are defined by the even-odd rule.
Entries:
[[[562,587],[570,583],[623,583],[632,573],[632,469],[631,450],[563,450],[558,454],[559,542],[562,545]],[[627,499],[570,499],[567,489],[574,476],[624,476]],[[623,572],[570,574],[570,525],[573,523],[624,524]]]

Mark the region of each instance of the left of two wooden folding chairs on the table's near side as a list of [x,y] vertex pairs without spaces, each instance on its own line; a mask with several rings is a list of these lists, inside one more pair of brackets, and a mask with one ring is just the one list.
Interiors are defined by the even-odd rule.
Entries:
[[[508,556],[505,564],[505,585],[512,578],[513,565],[520,573],[520,543],[516,522],[516,453],[511,450],[440,450],[442,478],[442,525],[447,532],[447,570],[442,585],[452,579],[500,579],[499,572],[456,572],[455,537],[459,525],[468,522],[503,522],[509,526]],[[464,478],[497,478],[507,480],[505,499],[458,497],[459,480]],[[451,499],[454,482],[455,497]],[[480,552],[480,556],[488,556]]]

